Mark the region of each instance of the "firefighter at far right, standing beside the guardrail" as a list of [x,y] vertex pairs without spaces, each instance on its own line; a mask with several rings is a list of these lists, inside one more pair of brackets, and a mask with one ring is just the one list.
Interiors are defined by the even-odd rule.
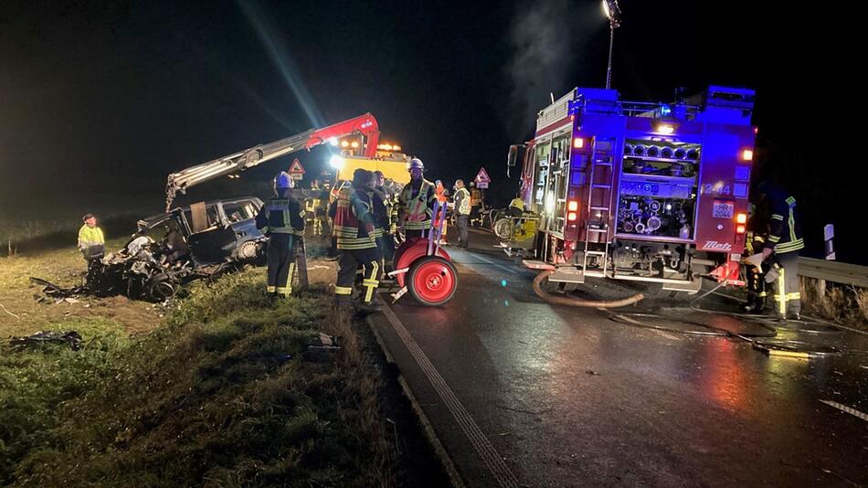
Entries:
[[783,188],[764,181],[757,187],[760,198],[767,203],[768,239],[763,244],[763,260],[778,264],[775,283],[775,311],[782,319],[799,320],[801,294],[799,293],[799,250],[805,247],[799,228],[796,198]]

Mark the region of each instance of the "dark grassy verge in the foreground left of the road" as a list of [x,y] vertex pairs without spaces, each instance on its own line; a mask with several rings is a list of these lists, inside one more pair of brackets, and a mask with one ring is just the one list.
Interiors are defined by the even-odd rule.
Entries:
[[[0,356],[0,484],[388,486],[378,380],[323,289],[271,303],[262,270],[196,283],[164,325]],[[311,349],[319,334],[341,349]]]

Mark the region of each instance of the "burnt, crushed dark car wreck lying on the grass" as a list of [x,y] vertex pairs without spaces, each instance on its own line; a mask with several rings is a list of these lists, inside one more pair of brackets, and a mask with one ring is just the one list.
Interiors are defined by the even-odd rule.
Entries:
[[82,286],[61,288],[45,280],[31,281],[56,299],[121,294],[164,302],[189,281],[214,278],[245,264],[262,264],[268,238],[254,222],[261,207],[255,196],[175,207],[139,220],[136,233],[122,249],[90,261]]

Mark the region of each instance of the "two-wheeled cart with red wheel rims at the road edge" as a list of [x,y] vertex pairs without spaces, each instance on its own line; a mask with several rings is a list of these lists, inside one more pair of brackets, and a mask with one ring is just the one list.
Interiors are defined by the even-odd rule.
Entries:
[[449,302],[458,290],[458,271],[439,242],[446,225],[446,202],[434,206],[428,237],[408,239],[395,251],[394,277],[400,289],[393,302],[408,293],[417,302],[436,306]]

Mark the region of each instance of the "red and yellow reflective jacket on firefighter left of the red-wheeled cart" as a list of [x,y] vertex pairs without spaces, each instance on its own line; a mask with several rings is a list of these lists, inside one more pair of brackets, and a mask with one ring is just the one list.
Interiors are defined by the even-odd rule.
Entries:
[[332,231],[337,249],[376,248],[374,222],[371,196],[365,188],[342,188],[337,197]]

